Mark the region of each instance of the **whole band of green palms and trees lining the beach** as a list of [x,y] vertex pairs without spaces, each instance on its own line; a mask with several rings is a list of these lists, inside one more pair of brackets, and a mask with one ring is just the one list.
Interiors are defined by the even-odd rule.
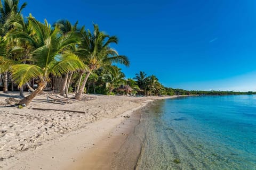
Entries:
[[[7,93],[16,87],[22,97],[23,89],[29,89],[30,95],[20,105],[29,105],[45,88],[55,88],[66,97],[73,92],[78,100],[83,93],[124,95],[128,91],[138,96],[255,94],[167,88],[155,75],[143,71],[126,78],[116,64],[129,66],[130,62],[111,47],[118,43],[116,36],[101,31],[97,24],[90,31],[68,20],[59,20],[52,27],[32,14],[23,18],[26,5],[19,7],[19,0],[0,0],[0,88]],[[59,87],[53,87],[53,80]]]

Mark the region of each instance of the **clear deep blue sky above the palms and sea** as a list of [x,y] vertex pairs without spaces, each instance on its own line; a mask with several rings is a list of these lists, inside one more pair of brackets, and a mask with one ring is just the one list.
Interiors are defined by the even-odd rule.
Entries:
[[20,1],[23,15],[59,19],[119,38],[126,77],[145,71],[167,87],[256,91],[256,1]]

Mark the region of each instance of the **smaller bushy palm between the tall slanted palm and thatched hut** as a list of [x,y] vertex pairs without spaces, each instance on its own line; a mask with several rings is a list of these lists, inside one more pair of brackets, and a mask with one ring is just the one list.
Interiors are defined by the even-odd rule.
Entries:
[[111,93],[115,88],[118,88],[120,85],[125,84],[125,75],[117,66],[109,67],[109,74],[103,75],[106,81],[106,87]]

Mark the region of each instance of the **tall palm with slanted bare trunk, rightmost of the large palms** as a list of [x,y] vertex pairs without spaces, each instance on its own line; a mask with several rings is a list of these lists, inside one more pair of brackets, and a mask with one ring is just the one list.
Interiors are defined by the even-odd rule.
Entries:
[[77,54],[84,58],[84,62],[89,66],[89,71],[86,72],[85,79],[83,80],[75,99],[81,99],[85,84],[92,71],[99,69],[105,65],[111,65],[113,62],[121,63],[129,66],[130,62],[126,56],[118,55],[115,49],[110,48],[111,43],[118,43],[116,36],[109,36],[99,30],[98,25],[93,25],[93,33],[88,30],[87,32],[81,30],[82,43],[81,50]]

